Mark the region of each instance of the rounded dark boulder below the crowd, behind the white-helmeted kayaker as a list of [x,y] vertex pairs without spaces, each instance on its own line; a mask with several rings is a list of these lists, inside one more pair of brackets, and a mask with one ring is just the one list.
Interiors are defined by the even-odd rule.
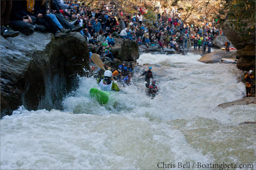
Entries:
[[140,57],[138,44],[129,39],[114,38],[115,46],[111,47],[114,57],[125,61],[134,61]]

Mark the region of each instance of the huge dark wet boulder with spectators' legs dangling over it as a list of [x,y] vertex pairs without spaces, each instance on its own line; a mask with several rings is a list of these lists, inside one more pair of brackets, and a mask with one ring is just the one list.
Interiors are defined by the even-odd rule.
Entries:
[[20,105],[61,109],[61,99],[76,87],[88,60],[87,43],[77,32],[61,39],[38,32],[1,37],[1,117]]

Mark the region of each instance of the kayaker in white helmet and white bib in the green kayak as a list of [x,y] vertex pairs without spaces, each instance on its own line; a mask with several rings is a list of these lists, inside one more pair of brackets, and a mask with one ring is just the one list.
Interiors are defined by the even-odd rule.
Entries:
[[111,91],[111,90],[120,91],[116,83],[111,80],[111,77],[112,77],[112,72],[110,70],[106,70],[104,72],[104,78],[103,79],[99,78],[98,80],[100,89],[105,91]]

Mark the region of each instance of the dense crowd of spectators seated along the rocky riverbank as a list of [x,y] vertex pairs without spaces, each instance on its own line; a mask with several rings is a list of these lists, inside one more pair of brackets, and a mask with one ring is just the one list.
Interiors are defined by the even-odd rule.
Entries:
[[148,47],[173,48],[177,52],[192,43],[194,48],[205,50],[208,47],[210,52],[212,40],[222,34],[216,29],[215,20],[205,22],[204,26],[189,25],[182,21],[181,13],[175,8],[156,14],[154,23],[145,19],[145,8],[125,13],[110,2],[104,4],[104,9],[97,10],[76,0],[3,1],[1,9],[1,35],[4,37],[17,36],[19,32],[28,35],[37,30],[61,38],[70,31],[79,31],[89,44],[99,46],[97,53],[102,59],[111,61],[114,61],[110,50],[110,46],[115,45],[114,38],[131,39]]

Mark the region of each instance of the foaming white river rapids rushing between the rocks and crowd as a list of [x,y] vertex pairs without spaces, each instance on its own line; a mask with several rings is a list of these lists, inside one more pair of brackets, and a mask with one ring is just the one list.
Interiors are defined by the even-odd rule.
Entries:
[[[111,92],[103,106],[89,97],[99,88],[95,79],[84,77],[63,99],[63,111],[21,106],[1,120],[1,169],[158,169],[188,162],[189,168],[199,162],[199,169],[223,162],[256,168],[256,125],[240,124],[255,121],[255,104],[217,107],[243,98],[241,71],[198,59],[145,53],[133,85]],[[154,99],[145,95],[144,78],[136,78],[148,66],[159,87]]]

